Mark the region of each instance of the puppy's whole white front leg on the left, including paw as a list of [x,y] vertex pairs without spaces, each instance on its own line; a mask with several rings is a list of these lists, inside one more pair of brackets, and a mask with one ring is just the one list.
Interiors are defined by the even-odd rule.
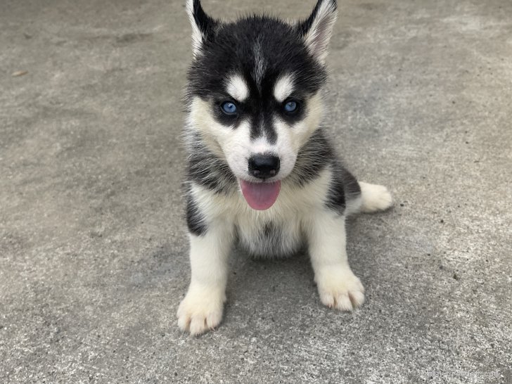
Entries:
[[199,236],[190,233],[191,283],[178,308],[182,331],[200,335],[222,320],[232,243],[233,227],[223,221],[210,223]]

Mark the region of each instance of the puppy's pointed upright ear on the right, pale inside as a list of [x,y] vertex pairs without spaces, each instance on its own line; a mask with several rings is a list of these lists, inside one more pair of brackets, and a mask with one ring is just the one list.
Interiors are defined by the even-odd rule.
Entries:
[[333,25],[338,16],[336,0],[318,0],[313,12],[299,28],[309,52],[324,64],[327,46],[333,32]]

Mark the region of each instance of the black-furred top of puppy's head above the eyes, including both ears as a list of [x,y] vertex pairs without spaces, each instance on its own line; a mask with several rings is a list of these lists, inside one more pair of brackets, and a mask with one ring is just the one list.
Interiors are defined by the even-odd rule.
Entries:
[[268,96],[265,93],[276,77],[286,72],[297,75],[297,89],[305,94],[315,93],[324,84],[335,0],[319,0],[306,20],[293,25],[262,15],[220,23],[203,11],[199,0],[188,0],[187,8],[195,56],[188,72],[189,95],[224,97],[218,93],[233,72],[243,74],[251,95],[262,98]]

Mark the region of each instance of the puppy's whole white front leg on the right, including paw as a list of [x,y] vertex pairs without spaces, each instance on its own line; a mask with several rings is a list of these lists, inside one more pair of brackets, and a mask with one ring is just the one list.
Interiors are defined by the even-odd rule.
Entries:
[[347,260],[345,216],[320,210],[309,222],[309,255],[320,300],[351,311],[364,302],[364,287]]

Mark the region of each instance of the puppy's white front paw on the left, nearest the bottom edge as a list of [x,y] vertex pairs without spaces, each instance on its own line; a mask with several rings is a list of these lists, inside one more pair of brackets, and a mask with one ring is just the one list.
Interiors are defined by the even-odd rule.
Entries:
[[191,286],[178,308],[181,331],[196,336],[213,330],[222,320],[224,293]]

